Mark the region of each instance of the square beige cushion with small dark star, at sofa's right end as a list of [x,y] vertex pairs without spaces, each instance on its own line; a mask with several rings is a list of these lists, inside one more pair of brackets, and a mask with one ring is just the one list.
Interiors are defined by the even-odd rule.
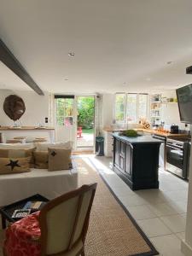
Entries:
[[48,148],[48,171],[69,170],[72,168],[71,149]]

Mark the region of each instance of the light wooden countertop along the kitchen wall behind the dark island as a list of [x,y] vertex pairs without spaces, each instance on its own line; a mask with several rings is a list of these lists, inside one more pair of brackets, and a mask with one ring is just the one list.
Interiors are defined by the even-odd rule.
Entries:
[[[127,129],[111,129],[111,128],[104,128],[103,129],[103,131],[108,131],[108,132],[125,131],[125,130],[127,130]],[[137,129],[134,129],[134,130],[135,131],[148,132],[148,133],[163,136],[163,137],[189,137],[188,134],[170,133],[170,132],[156,131],[156,130],[152,130],[152,129],[137,128]]]

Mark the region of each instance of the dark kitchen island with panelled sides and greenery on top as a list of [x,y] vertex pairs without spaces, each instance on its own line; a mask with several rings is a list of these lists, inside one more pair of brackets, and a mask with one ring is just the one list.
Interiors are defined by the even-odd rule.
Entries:
[[113,136],[113,171],[132,190],[158,189],[160,140],[147,136]]

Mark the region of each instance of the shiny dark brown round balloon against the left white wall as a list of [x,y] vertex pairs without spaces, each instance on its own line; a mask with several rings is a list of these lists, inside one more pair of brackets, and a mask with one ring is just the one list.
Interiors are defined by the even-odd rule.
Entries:
[[9,95],[4,100],[3,109],[10,119],[16,121],[25,113],[26,106],[20,96]]

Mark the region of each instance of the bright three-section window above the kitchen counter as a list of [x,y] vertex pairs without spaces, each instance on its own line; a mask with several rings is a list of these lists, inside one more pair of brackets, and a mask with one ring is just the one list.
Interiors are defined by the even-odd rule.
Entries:
[[115,122],[137,123],[148,118],[148,95],[137,93],[115,94]]

